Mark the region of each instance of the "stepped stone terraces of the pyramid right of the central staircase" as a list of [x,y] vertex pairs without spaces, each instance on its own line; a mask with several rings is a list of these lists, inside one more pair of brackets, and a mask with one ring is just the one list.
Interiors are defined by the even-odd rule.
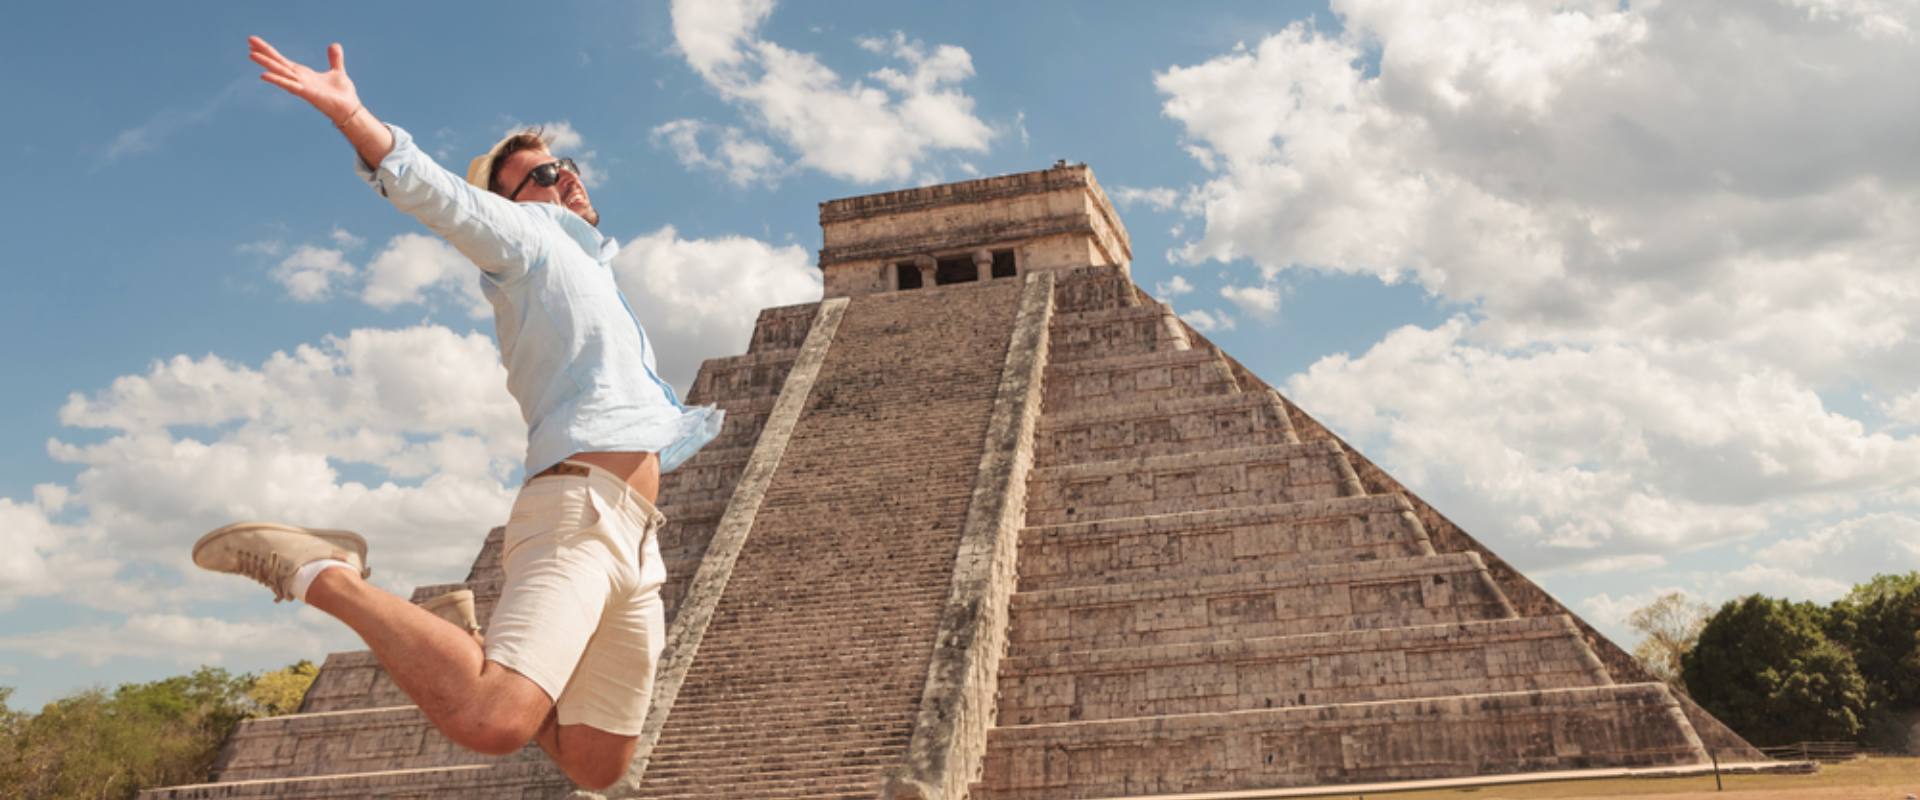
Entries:
[[[1705,762],[1114,271],[1062,276],[981,800]],[[1369,464],[1371,466],[1371,464]]]

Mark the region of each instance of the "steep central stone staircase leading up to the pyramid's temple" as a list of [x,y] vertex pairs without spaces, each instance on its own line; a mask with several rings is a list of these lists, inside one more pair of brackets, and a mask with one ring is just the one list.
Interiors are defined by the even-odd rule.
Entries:
[[1020,290],[845,305],[710,620],[670,645],[693,652],[634,796],[877,796],[914,731]]

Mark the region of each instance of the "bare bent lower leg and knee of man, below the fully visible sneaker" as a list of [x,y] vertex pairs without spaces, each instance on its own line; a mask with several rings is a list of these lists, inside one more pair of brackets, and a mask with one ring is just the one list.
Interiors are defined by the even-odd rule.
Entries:
[[553,700],[526,675],[482,656],[457,625],[349,570],[324,570],[307,604],[346,622],[426,719],[455,744],[505,756],[540,731]]

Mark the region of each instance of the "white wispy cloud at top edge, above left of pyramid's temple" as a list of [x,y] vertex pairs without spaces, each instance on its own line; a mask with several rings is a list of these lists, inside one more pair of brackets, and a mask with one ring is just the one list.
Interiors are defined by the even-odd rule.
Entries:
[[793,163],[854,182],[899,182],[924,173],[935,153],[987,150],[993,129],[958,88],[973,75],[964,48],[929,50],[902,33],[862,38],[862,50],[899,67],[868,73],[874,82],[845,81],[812,54],[758,38],[772,10],[770,0],[676,0],[674,40],[714,92],[795,152]]

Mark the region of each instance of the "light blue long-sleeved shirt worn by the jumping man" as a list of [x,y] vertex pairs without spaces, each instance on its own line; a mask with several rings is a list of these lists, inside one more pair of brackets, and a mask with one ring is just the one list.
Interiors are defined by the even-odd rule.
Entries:
[[672,470],[720,434],[685,407],[612,278],[614,240],[555,203],[515,203],[434,163],[399,127],[380,169],[355,169],[480,267],[507,391],[526,420],[526,474],[574,453],[651,451]]

